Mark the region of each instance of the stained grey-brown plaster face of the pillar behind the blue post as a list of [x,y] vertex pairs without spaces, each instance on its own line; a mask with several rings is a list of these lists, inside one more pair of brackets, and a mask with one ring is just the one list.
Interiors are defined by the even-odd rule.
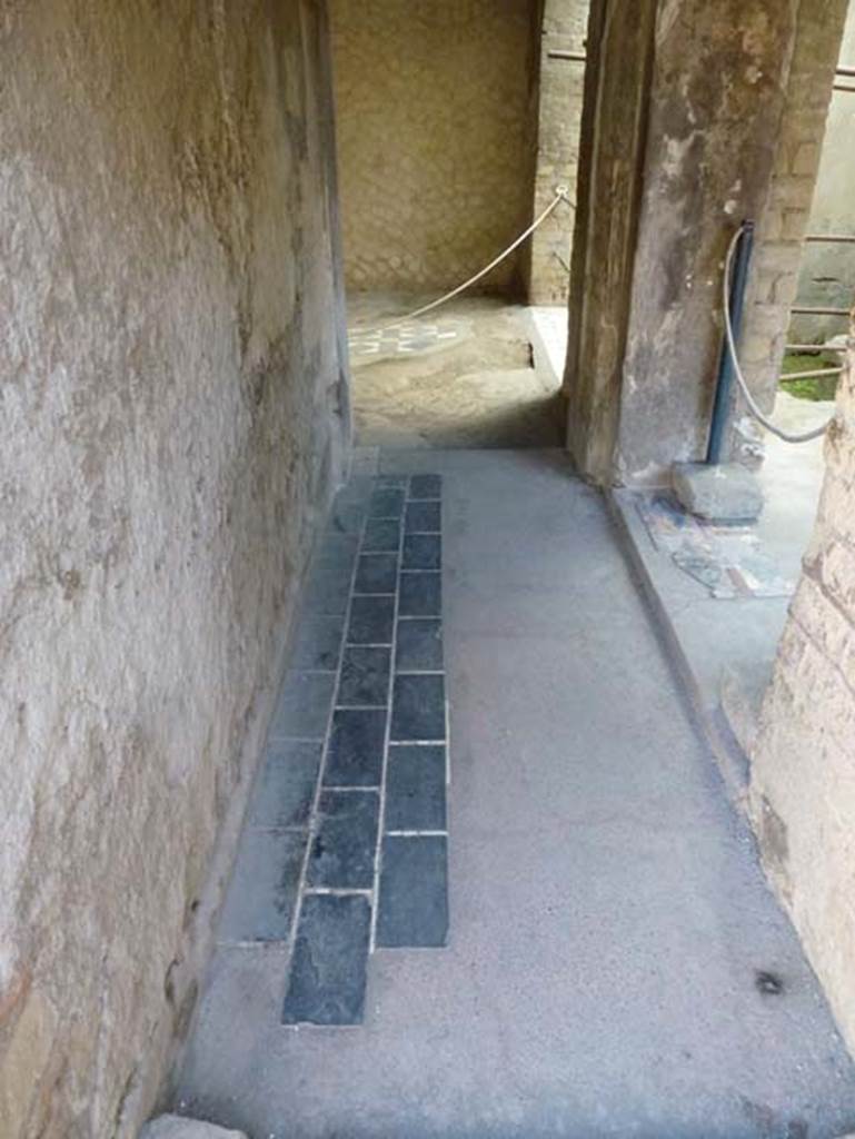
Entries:
[[664,0],[624,360],[618,477],[663,483],[702,458],[722,261],[775,156],[797,0]]

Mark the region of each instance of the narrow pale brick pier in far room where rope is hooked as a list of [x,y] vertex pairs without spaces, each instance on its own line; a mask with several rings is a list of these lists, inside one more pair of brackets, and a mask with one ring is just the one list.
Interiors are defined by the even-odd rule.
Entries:
[[531,304],[566,304],[570,290],[585,64],[575,59],[556,59],[550,51],[584,55],[587,9],[589,0],[545,0],[544,5],[534,214],[537,216],[546,208],[554,197],[556,186],[568,188],[573,204],[559,205],[532,237]]

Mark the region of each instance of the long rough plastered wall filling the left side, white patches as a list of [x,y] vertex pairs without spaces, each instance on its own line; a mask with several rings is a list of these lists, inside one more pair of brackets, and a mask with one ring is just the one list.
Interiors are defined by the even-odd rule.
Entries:
[[346,448],[323,19],[0,15],[3,1139],[135,1136],[192,1009]]

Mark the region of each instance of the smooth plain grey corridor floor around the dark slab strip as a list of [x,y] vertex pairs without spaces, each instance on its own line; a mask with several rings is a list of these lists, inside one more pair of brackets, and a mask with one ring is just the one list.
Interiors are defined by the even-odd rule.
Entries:
[[558,451],[442,475],[445,948],[370,957],[363,1023],[282,1024],[223,944],[176,1109],[250,1139],[831,1139],[855,1070],[675,687],[600,495]]

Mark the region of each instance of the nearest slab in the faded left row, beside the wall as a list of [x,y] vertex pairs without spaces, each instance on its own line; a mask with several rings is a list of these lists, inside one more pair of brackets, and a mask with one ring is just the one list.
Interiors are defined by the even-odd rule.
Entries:
[[287,941],[306,835],[245,830],[220,923],[222,941]]

